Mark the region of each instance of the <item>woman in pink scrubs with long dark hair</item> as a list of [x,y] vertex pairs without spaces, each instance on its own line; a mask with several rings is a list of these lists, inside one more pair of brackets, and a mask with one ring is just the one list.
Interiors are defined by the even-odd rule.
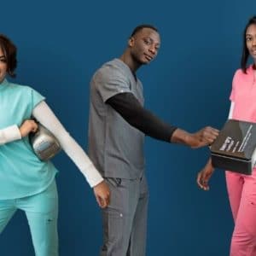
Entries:
[[[249,56],[253,64],[247,65]],[[256,16],[247,22],[243,34],[241,68],[234,75],[230,94],[229,119],[256,123]],[[198,173],[201,189],[209,189],[214,172],[211,159]],[[235,228],[230,245],[230,256],[256,255],[256,167],[251,176],[226,171],[226,183]]]

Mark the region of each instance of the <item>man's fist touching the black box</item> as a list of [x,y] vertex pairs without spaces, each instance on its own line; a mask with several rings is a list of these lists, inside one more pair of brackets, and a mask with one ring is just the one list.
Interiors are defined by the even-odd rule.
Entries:
[[200,131],[189,134],[187,137],[187,143],[191,148],[201,148],[212,144],[217,137],[218,130],[207,126]]

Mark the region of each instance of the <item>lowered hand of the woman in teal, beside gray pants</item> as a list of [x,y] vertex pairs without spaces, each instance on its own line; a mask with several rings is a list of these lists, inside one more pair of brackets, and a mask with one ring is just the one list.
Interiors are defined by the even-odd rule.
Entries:
[[107,183],[102,181],[102,183],[97,184],[93,188],[93,190],[99,207],[108,207],[108,204],[110,202],[110,190],[108,188]]

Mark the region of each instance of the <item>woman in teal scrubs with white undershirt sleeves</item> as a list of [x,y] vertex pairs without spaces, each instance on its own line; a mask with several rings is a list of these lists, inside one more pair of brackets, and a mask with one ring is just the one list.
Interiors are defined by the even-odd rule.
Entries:
[[50,110],[44,96],[15,77],[16,47],[0,35],[0,233],[17,209],[26,213],[37,256],[58,255],[58,196],[55,166],[33,153],[28,134],[37,130],[32,116],[51,131],[94,189],[100,207],[109,203],[108,185],[84,150]]

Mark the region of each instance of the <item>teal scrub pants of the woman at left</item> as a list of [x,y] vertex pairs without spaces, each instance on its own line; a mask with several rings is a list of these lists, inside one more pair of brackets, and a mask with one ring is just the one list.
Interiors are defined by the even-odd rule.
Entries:
[[58,256],[58,195],[55,181],[37,195],[0,200],[0,233],[18,209],[26,212],[36,256]]

